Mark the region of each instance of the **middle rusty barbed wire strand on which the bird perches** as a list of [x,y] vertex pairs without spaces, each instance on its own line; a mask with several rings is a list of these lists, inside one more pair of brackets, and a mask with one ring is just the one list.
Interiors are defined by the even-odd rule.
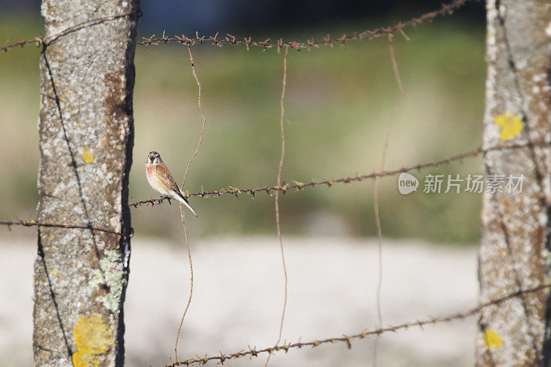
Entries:
[[[325,187],[331,187],[333,184],[337,183],[350,183],[350,182],[360,182],[364,180],[373,180],[377,177],[386,177],[386,176],[396,176],[399,174],[402,174],[403,172],[409,172],[409,171],[419,171],[422,169],[427,169],[430,167],[437,167],[440,165],[448,165],[451,162],[455,161],[461,161],[466,158],[472,158],[479,156],[480,154],[487,153],[488,151],[497,151],[497,150],[506,150],[506,149],[521,149],[526,147],[534,147],[534,146],[542,146],[542,145],[550,145],[549,141],[539,141],[539,142],[531,142],[531,143],[518,143],[518,144],[510,144],[510,145],[500,145],[498,147],[490,147],[490,148],[482,148],[479,147],[472,151],[467,151],[465,153],[457,154],[455,156],[450,156],[446,159],[442,160],[430,160],[428,162],[419,163],[418,165],[410,165],[410,166],[404,166],[399,169],[395,169],[393,171],[380,171],[380,172],[373,172],[372,174],[366,174],[366,175],[359,175],[356,174],[354,176],[344,176],[342,178],[328,178],[325,180],[320,181],[311,181],[311,182],[298,182],[293,180],[293,184],[284,184],[284,185],[275,185],[272,187],[264,186],[264,187],[251,187],[249,189],[238,189],[236,187],[228,186],[227,189],[220,189],[220,190],[213,190],[213,191],[199,191],[196,193],[187,193],[187,198],[190,196],[200,196],[202,198],[210,198],[211,196],[222,196],[222,195],[234,195],[236,198],[239,197],[242,193],[247,193],[253,196],[255,198],[256,193],[259,192],[265,192],[269,195],[272,195],[275,192],[282,192],[287,193],[289,191],[302,191],[303,189],[306,189],[306,187],[317,187],[317,186],[325,186]],[[149,199],[149,200],[139,200],[130,202],[128,204],[129,207],[141,207],[142,205],[159,205],[165,201],[169,201],[170,198],[167,196],[161,196],[157,199]]]

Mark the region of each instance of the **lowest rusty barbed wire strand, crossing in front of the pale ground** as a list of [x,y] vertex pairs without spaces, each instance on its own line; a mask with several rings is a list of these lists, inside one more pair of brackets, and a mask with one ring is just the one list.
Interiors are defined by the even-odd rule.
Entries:
[[206,364],[208,361],[218,361],[218,363],[224,364],[224,362],[229,360],[229,359],[236,359],[236,358],[245,357],[245,356],[250,356],[251,358],[252,357],[258,357],[258,355],[261,354],[261,353],[270,353],[270,354],[272,354],[274,352],[279,352],[281,350],[284,350],[285,353],[287,353],[289,351],[289,349],[291,349],[291,348],[299,348],[300,349],[304,346],[316,347],[316,346],[320,346],[322,344],[334,344],[334,343],[337,343],[337,342],[346,343],[346,345],[350,349],[350,348],[352,348],[352,340],[353,339],[364,339],[364,338],[366,338],[368,336],[371,336],[371,335],[380,335],[382,333],[388,333],[390,331],[396,333],[399,330],[408,329],[408,328],[416,327],[416,326],[423,329],[423,326],[426,326],[426,325],[437,324],[439,322],[452,322],[453,320],[456,320],[456,319],[466,319],[467,317],[477,315],[484,308],[488,308],[489,306],[495,306],[495,305],[500,304],[502,302],[506,302],[506,301],[508,301],[512,298],[519,297],[521,295],[525,295],[525,294],[528,294],[528,293],[536,293],[536,292],[542,291],[543,289],[548,289],[550,287],[551,287],[551,284],[541,284],[541,285],[536,286],[534,288],[519,290],[517,292],[510,293],[509,295],[497,298],[496,300],[491,300],[491,301],[486,302],[484,304],[480,304],[479,306],[477,306],[475,308],[471,308],[470,310],[468,310],[466,312],[452,313],[452,314],[449,314],[449,315],[446,315],[446,316],[443,316],[443,317],[430,317],[428,319],[415,320],[414,322],[405,322],[404,324],[399,324],[399,325],[395,325],[395,326],[388,325],[385,328],[377,328],[377,329],[374,329],[374,330],[371,330],[371,331],[363,331],[362,333],[357,333],[355,335],[343,335],[342,337],[330,337],[330,338],[326,338],[326,339],[315,339],[315,340],[312,340],[311,342],[300,342],[300,339],[299,339],[299,342],[296,342],[296,343],[287,344],[287,342],[285,342],[282,346],[276,345],[276,346],[273,346],[273,347],[270,347],[270,348],[264,348],[264,349],[260,349],[260,350],[257,350],[256,347],[251,348],[249,346],[249,350],[240,350],[239,352],[236,352],[236,353],[222,353],[222,352],[220,352],[220,356],[214,355],[214,356],[207,357],[207,355],[205,355],[205,357],[197,357],[197,358],[192,358],[192,359],[186,359],[185,361],[175,361],[174,363],[167,364],[165,367],[190,366],[190,365],[195,364],[195,363]]

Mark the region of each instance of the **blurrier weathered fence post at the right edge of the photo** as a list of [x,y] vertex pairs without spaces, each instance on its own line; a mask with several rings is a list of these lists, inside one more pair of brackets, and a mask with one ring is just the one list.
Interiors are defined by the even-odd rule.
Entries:
[[[551,194],[548,1],[488,0],[484,147],[488,151],[481,213],[481,302],[550,282]],[[523,179],[523,177],[524,179]],[[522,181],[522,187],[514,187]],[[479,319],[479,366],[550,362],[549,290],[484,308]]]

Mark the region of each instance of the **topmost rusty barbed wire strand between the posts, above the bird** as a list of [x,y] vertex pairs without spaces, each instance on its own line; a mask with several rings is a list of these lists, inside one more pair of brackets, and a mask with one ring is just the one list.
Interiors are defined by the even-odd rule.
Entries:
[[[174,37],[167,37],[165,36],[165,31],[163,31],[162,37],[155,37],[155,34],[150,36],[149,38],[142,37],[143,41],[138,41],[139,45],[158,45],[160,43],[164,43],[167,45],[169,42],[178,42],[178,43],[185,43],[186,45],[196,45],[196,44],[208,44],[208,45],[216,45],[219,47],[222,47],[222,45],[245,45],[247,47],[247,50],[249,50],[249,47],[251,46],[258,46],[261,48],[264,48],[264,50],[267,50],[268,48],[277,48],[278,51],[280,48],[293,48],[295,50],[300,51],[301,49],[310,50],[311,48],[319,48],[320,45],[330,45],[333,47],[333,43],[341,43],[344,44],[346,41],[351,40],[360,40],[360,39],[375,39],[380,36],[383,36],[385,34],[394,34],[395,32],[404,32],[404,28],[407,26],[416,26],[418,24],[424,23],[426,21],[433,21],[436,17],[439,16],[445,16],[452,14],[455,10],[461,8],[461,6],[464,6],[467,2],[474,1],[474,0],[454,0],[451,3],[444,3],[442,4],[441,8],[439,10],[435,10],[432,12],[426,12],[424,14],[421,14],[419,17],[411,18],[408,21],[400,21],[399,23],[395,25],[391,25],[387,28],[375,28],[373,30],[364,30],[362,32],[354,32],[353,34],[342,34],[342,36],[337,38],[331,38],[329,34],[323,37],[322,41],[315,41],[312,39],[306,39],[306,41],[287,41],[284,42],[283,39],[278,39],[276,42],[269,42],[271,38],[266,39],[265,41],[252,41],[251,36],[249,38],[244,37],[243,41],[240,41],[236,39],[236,36],[232,36],[231,34],[226,34],[226,36],[218,37],[217,32],[214,36],[199,36],[198,32],[196,32],[195,37],[187,37],[185,34],[182,34],[182,36],[174,36]],[[405,34],[404,34],[405,35]]]

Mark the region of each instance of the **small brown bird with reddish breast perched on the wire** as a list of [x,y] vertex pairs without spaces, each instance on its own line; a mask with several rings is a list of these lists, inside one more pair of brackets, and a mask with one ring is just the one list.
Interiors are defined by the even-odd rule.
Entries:
[[194,213],[194,215],[197,216],[194,209],[191,209],[189,206],[189,202],[187,202],[184,193],[180,190],[180,187],[178,187],[178,184],[170,174],[167,165],[163,163],[163,160],[160,159],[160,154],[156,151],[150,151],[149,154],[147,154],[145,174],[151,187],[163,195],[170,196],[171,198],[178,200],[189,210],[191,210],[191,213]]

